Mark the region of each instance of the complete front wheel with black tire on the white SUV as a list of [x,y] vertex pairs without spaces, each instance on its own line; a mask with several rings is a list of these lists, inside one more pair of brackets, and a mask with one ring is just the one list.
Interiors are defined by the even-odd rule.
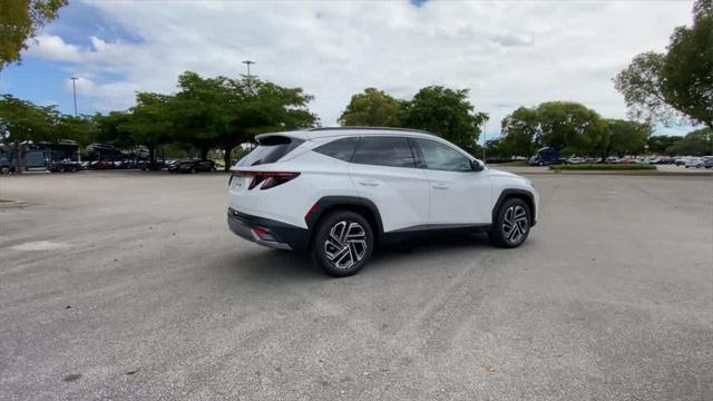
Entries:
[[494,226],[488,232],[488,237],[496,246],[506,248],[518,247],[527,239],[531,223],[531,212],[525,200],[509,198],[506,199],[498,209]]

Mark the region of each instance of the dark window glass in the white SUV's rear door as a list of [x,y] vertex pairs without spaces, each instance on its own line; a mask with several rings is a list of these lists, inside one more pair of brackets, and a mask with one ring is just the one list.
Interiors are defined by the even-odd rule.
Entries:
[[416,167],[416,160],[406,137],[362,137],[352,163]]

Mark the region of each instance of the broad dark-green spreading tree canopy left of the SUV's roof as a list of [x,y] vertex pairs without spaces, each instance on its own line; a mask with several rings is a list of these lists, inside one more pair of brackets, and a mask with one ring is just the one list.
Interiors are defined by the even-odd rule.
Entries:
[[312,96],[301,88],[284,88],[254,77],[204,78],[186,71],[178,77],[178,92],[139,92],[129,113],[96,116],[99,138],[117,146],[144,145],[152,157],[170,143],[197,148],[205,158],[221,148],[229,168],[231,150],[256,134],[313,127],[309,111]]

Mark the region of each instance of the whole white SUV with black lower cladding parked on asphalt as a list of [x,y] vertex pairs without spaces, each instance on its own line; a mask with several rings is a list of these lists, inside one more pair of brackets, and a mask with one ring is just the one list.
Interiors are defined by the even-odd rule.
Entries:
[[256,140],[232,168],[231,231],[310,251],[334,276],[356,273],[388,239],[484,231],[494,244],[515,247],[537,222],[529,179],[487,168],[426,131],[316,128]]

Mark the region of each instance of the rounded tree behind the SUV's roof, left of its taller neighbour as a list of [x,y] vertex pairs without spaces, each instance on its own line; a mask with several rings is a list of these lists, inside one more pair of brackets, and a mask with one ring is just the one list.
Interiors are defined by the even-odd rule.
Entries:
[[367,88],[362,94],[352,96],[339,118],[343,126],[398,127],[402,100],[391,97],[383,90]]

